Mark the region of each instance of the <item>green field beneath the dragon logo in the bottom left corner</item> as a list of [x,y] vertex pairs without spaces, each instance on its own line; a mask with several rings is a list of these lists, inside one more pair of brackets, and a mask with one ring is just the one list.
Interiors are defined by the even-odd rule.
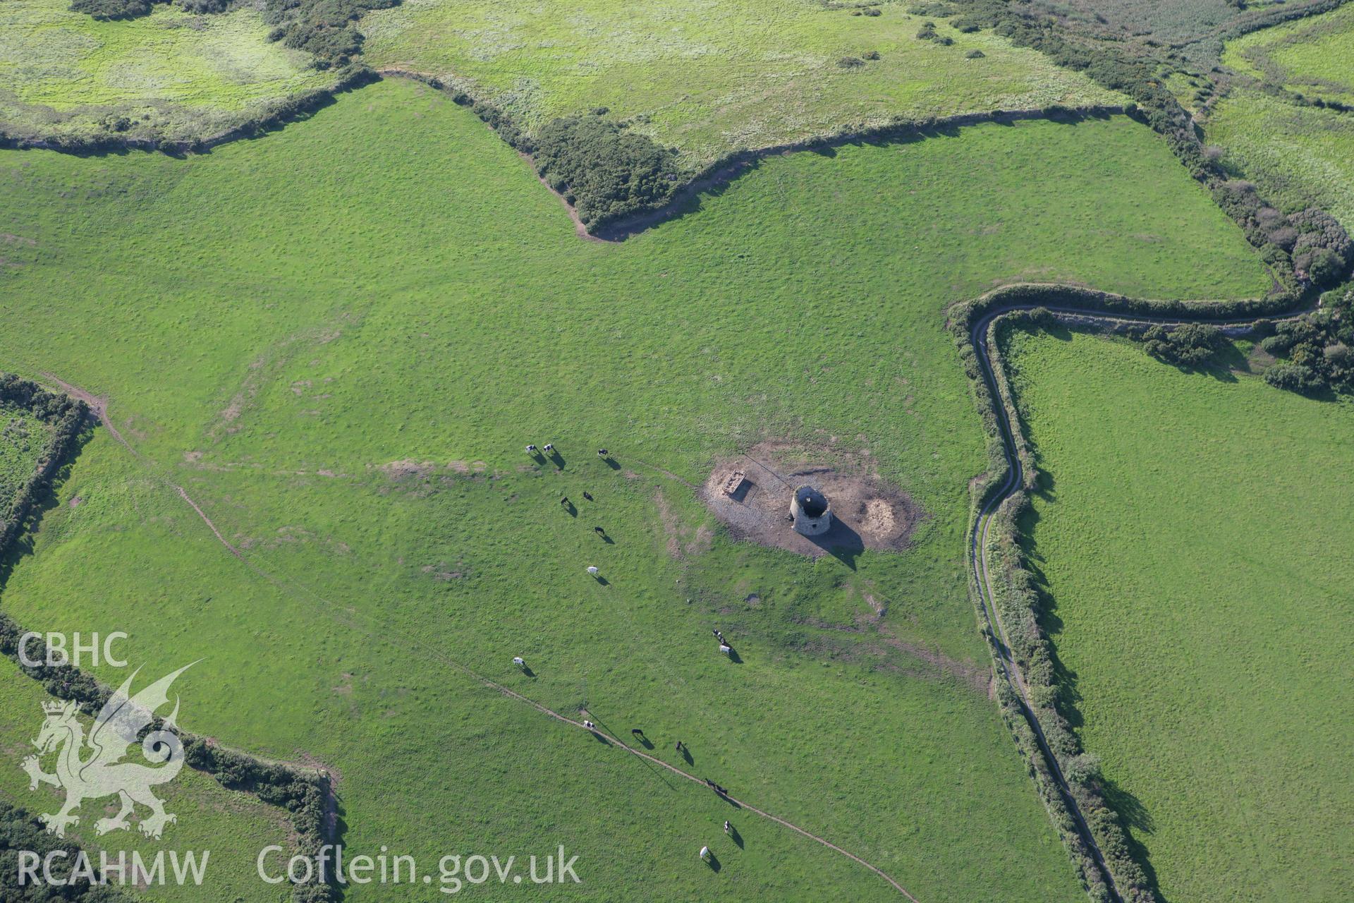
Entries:
[[[141,674],[142,680],[146,677],[145,673]],[[149,680],[161,676],[152,676]],[[51,699],[38,681],[24,676],[9,658],[0,658],[0,751],[4,753],[0,800],[23,807],[34,815],[58,811],[65,799],[61,791],[47,785],[30,791],[28,776],[19,766],[34,751],[31,741],[38,736],[46,718],[42,703]],[[91,719],[84,719],[84,723],[88,730]],[[139,755],[133,749],[127,761],[139,761]],[[50,757],[45,759],[45,766],[51,770]],[[162,841],[148,839],[135,830],[135,822],[146,814],[145,810],[137,811],[130,831],[111,831],[99,837],[93,823],[118,811],[114,796],[85,800],[76,812],[80,815],[80,824],[68,830],[66,842],[85,850],[95,865],[100,861],[100,850],[114,864],[118,862],[118,854],[125,853],[129,876],[133,852],[139,853],[148,866],[160,850],[175,850],[180,856],[192,850],[198,854],[198,861],[202,861],[203,850],[209,852],[200,887],[190,887],[187,891],[172,884],[123,888],[129,894],[137,891],[146,900],[184,900],[190,899],[185,896],[188,894],[194,895],[191,899],[232,903],[280,903],[288,899],[290,895],[284,891],[255,877],[255,857],[261,847],[276,843],[291,849],[290,826],[283,810],[265,806],[252,795],[227,791],[214,777],[192,769],[180,772],[173,781],[157,788],[156,795],[164,800],[167,812],[179,816],[176,823],[167,826]],[[60,862],[56,868],[60,872]],[[165,872],[169,871],[167,853]],[[112,880],[116,883],[115,877]]]

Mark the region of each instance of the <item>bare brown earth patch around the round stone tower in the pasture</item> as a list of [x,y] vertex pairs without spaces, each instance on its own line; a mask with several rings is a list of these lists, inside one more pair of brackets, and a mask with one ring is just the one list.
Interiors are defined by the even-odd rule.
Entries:
[[[818,536],[795,531],[791,500],[799,486],[827,497],[831,527]],[[765,441],[715,463],[697,490],[735,539],[818,558],[833,551],[902,551],[922,509],[879,475],[868,455]]]

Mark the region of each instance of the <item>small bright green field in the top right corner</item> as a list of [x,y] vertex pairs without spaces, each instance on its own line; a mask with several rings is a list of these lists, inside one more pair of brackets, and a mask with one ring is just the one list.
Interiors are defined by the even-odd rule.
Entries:
[[1224,65],[1313,97],[1354,103],[1354,7],[1231,41]]

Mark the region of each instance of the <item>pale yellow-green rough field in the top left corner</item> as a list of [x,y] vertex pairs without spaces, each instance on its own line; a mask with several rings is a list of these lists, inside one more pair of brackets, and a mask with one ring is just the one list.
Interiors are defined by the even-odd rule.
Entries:
[[130,138],[202,138],[333,81],[307,54],[268,43],[253,8],[192,15],[157,4],[149,16],[97,22],[69,5],[0,4],[0,125],[14,135],[89,135],[125,116]]

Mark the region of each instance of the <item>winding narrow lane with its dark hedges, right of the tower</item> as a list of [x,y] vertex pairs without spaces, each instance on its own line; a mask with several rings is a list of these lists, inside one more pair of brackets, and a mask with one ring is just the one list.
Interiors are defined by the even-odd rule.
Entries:
[[1305,298],[1309,295],[1297,301],[1288,294],[1240,301],[1150,301],[1063,284],[1017,284],[960,302],[948,311],[948,328],[983,418],[988,452],[988,468],[969,485],[969,594],[999,680],[1002,718],[1097,903],[1160,903],[1160,896],[1150,862],[1135,849],[1098,774],[1083,768],[1080,738],[1053,701],[1062,688],[1049,640],[1039,627],[1043,601],[1016,542],[1016,520],[1029,504],[1028,493],[1039,471],[1021,428],[998,330],[1057,321],[1101,330],[1210,324],[1244,332],[1309,313]]

